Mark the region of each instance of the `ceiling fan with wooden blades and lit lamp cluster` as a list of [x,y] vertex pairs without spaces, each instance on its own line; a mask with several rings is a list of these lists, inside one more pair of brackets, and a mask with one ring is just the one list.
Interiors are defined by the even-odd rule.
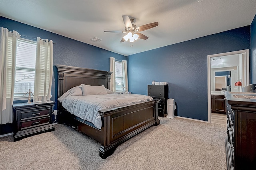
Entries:
[[148,39],[148,37],[139,32],[158,26],[158,22],[153,22],[137,27],[136,25],[132,24],[134,22],[134,19],[129,18],[128,16],[122,17],[124,20],[125,31],[104,31],[106,33],[128,33],[121,39],[120,43],[128,41],[128,39],[130,39],[130,42],[134,42],[138,38],[146,40]]

